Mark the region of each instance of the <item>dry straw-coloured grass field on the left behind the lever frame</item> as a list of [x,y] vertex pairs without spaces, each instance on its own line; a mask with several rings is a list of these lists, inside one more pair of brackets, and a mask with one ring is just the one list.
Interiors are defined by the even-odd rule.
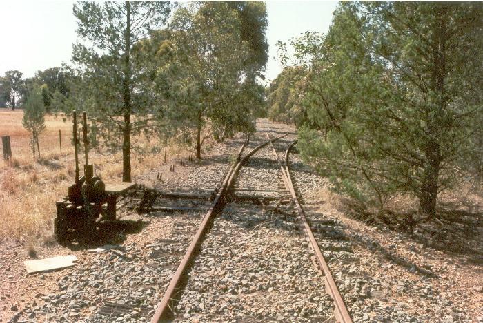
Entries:
[[[73,182],[72,123],[63,122],[61,116],[46,116],[46,130],[39,137],[41,159],[37,160],[30,150],[29,134],[21,125],[22,116],[21,110],[0,110],[0,136],[10,136],[13,156],[9,162],[0,161],[0,241],[14,238],[29,250],[34,250],[38,244],[52,242],[55,201],[67,194],[67,187]],[[59,151],[59,129],[62,133],[62,154]],[[138,144],[149,145],[145,138],[136,140]],[[168,152],[172,157],[183,153],[177,147],[170,147]],[[0,158],[2,156],[0,151]],[[89,156],[101,178],[121,180],[120,153],[90,152]],[[161,153],[139,155],[132,152],[132,177],[156,167],[161,160]]]

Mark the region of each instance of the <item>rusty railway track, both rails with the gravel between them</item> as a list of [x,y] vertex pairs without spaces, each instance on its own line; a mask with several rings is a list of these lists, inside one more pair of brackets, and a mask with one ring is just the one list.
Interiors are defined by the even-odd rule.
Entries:
[[[191,322],[188,319],[192,314],[209,322],[228,318],[268,322],[286,317],[301,322],[324,322],[331,317],[337,322],[352,322],[290,178],[288,156],[295,142],[288,145],[284,140],[278,145],[279,149],[287,148],[284,165],[277,156],[275,145],[285,137],[287,134],[268,137],[256,147],[250,143],[253,149],[245,155],[248,140],[239,149],[151,322]],[[268,157],[270,150],[275,158]],[[263,178],[257,178],[260,167],[268,171]],[[219,220],[213,221],[215,216]],[[273,229],[276,236],[266,236]],[[307,242],[303,242],[301,231]],[[286,234],[296,235],[298,242],[287,247]],[[257,250],[251,240],[268,240],[267,249]],[[284,257],[273,255],[275,260],[270,262],[266,254],[276,249],[284,249]],[[313,268],[314,262],[318,271]],[[205,271],[211,275],[205,275]],[[298,275],[304,275],[303,283],[297,282]],[[279,288],[283,284],[287,289]],[[287,300],[293,295],[306,298],[308,304],[301,305],[297,300],[290,304]],[[211,304],[217,305],[206,308],[205,296],[207,304],[215,300]]]

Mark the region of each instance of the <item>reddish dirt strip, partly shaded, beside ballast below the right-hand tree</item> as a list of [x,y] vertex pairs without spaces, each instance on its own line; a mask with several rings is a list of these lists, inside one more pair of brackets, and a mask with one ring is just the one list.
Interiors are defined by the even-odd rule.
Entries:
[[[344,233],[361,259],[377,258],[380,264],[368,264],[365,267],[367,274],[394,282],[393,286],[387,287],[394,301],[407,302],[409,308],[420,313],[431,311],[431,308],[424,307],[427,303],[422,304],[425,300],[421,289],[415,289],[428,282],[442,298],[469,314],[472,322],[483,322],[481,224],[471,235],[460,232],[457,236],[453,234],[441,240],[440,236],[414,236],[388,229],[382,224],[368,225],[365,221],[356,220],[353,211],[348,210],[346,200],[327,188],[314,194],[311,202],[317,205],[320,213],[344,224]],[[398,285],[400,282],[404,282],[404,288],[408,289],[404,291],[406,293],[415,289],[413,298],[403,297]]]

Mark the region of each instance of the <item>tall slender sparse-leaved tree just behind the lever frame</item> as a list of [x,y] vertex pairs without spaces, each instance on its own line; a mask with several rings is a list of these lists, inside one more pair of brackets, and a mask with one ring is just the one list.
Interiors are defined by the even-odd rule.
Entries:
[[144,92],[145,64],[137,61],[136,43],[161,28],[172,8],[169,1],[79,1],[74,6],[77,34],[74,45],[77,92],[83,108],[106,145],[122,147],[123,180],[131,180],[131,136],[146,130],[154,114],[150,94]]

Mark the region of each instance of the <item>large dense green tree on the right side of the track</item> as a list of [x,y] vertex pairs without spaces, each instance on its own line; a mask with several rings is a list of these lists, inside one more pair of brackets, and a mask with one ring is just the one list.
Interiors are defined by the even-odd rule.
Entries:
[[413,194],[435,215],[481,156],[482,8],[341,3],[323,43],[294,42],[309,57],[299,149],[335,189],[378,207]]

